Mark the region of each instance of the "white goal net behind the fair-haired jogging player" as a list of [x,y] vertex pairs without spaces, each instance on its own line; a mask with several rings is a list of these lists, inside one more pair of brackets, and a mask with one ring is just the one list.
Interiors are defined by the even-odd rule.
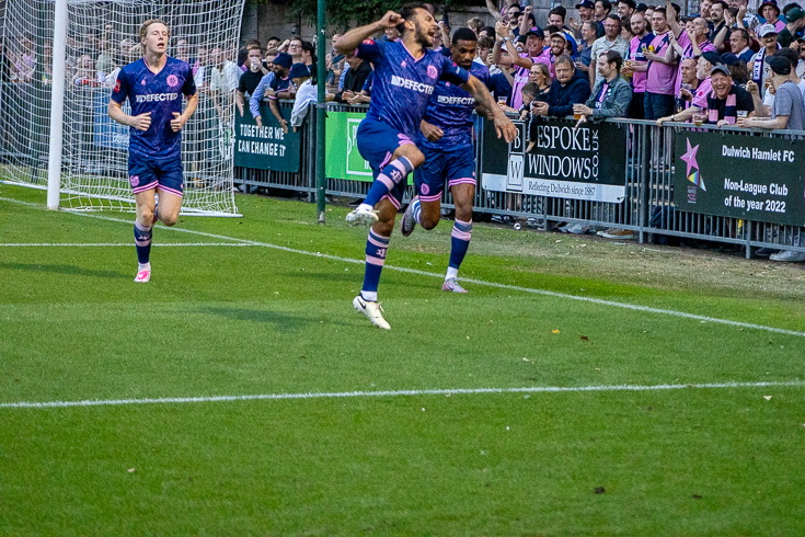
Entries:
[[[161,19],[171,31],[168,54],[191,64],[199,95],[182,134],[183,213],[235,215],[233,84],[244,0],[67,0],[61,47],[58,1],[65,0],[0,3],[0,181],[47,187],[50,141],[58,140],[51,126],[61,124],[59,205],[134,210],[128,127],[113,122],[106,106],[119,68],[141,57],[140,25]],[[64,84],[54,83],[59,49],[66,52]],[[64,98],[61,122],[51,117],[54,93]]]

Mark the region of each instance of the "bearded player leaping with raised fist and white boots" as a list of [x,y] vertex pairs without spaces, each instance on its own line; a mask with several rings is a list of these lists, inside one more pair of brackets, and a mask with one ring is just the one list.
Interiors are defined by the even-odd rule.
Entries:
[[[398,27],[402,38],[370,39],[389,27]],[[389,11],[372,24],[350,30],[335,43],[338,53],[357,54],[375,65],[371,103],[356,136],[360,156],[369,162],[375,181],[364,203],[347,215],[347,221],[372,225],[366,242],[364,286],[353,306],[386,330],[391,327],[377,301],[380,273],[407,175],[425,161],[414,139],[437,82],[445,80],[469,91],[494,118],[498,137],[511,141],[517,134],[483,82],[447,57],[427,49],[437,31],[436,20],[424,5],[410,4],[400,13]]]

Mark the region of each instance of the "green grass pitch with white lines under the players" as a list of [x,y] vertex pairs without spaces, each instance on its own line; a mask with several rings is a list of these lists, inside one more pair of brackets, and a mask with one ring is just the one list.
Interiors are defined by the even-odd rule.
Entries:
[[138,285],[0,184],[0,535],[805,534],[802,265],[478,224],[460,296],[442,221],[386,332],[344,208],[238,205]]

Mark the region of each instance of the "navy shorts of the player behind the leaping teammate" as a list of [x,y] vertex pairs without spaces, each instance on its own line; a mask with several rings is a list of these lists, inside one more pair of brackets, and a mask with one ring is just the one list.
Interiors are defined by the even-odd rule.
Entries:
[[425,163],[414,170],[414,186],[423,202],[437,202],[447,187],[475,184],[475,151],[472,146],[449,151],[423,146]]

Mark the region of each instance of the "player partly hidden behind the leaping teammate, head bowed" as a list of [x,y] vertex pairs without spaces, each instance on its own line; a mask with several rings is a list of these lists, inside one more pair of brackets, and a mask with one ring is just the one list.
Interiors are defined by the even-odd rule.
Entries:
[[[472,30],[462,27],[452,34],[452,62],[486,84],[490,70],[473,61],[476,48],[478,37]],[[456,204],[456,221],[441,289],[452,293],[467,293],[457,278],[472,235],[472,201],[475,197],[472,112],[475,104],[475,98],[457,85],[442,81],[436,87],[419,125],[422,136],[417,145],[425,156],[425,163],[414,171],[416,196],[405,209],[400,227],[405,237],[417,224],[425,229],[435,228],[439,224],[441,193],[447,181]],[[479,112],[488,114],[487,111]]]

